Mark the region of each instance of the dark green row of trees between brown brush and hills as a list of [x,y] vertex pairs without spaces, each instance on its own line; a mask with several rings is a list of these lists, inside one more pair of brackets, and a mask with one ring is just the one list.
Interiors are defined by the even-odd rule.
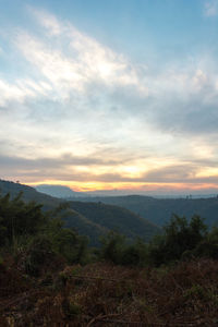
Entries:
[[43,206],[22,199],[0,196],[0,255],[13,255],[27,274],[37,276],[46,263],[64,261],[85,265],[95,261],[110,261],[117,265],[161,266],[196,257],[218,258],[218,228],[208,229],[204,219],[195,215],[190,220],[172,215],[162,233],[149,243],[142,239],[130,242],[110,231],[100,239],[99,247],[89,247],[88,239],[64,227],[66,204],[56,210],[44,211]]

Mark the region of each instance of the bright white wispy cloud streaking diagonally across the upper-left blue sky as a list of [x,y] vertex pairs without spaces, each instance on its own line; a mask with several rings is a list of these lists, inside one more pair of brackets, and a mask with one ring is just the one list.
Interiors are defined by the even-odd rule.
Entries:
[[46,39],[43,41],[21,29],[16,46],[55,87],[58,96],[68,98],[69,93],[84,92],[90,83],[113,88],[119,85],[133,86],[146,95],[147,88],[142,85],[137,71],[128,58],[68,22],[60,22],[44,11],[31,11],[44,28],[44,35],[46,32]]

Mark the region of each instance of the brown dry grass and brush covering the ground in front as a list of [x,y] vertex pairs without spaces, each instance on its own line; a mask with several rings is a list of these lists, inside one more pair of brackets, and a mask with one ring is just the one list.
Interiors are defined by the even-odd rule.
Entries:
[[218,326],[218,262],[97,263],[34,280],[1,266],[0,326]]

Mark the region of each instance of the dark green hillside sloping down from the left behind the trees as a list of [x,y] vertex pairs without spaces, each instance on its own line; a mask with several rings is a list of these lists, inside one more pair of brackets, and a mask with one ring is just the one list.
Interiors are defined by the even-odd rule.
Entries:
[[[55,209],[64,202],[37,192],[33,187],[2,180],[0,180],[0,190],[2,194],[10,193],[12,197],[23,192],[24,201],[40,203],[45,209]],[[70,201],[68,204],[69,208],[63,213],[65,225],[73,227],[80,234],[88,235],[92,245],[97,245],[99,237],[111,229],[125,234],[129,239],[141,237],[145,241],[161,231],[154,223],[116,205],[77,201]]]

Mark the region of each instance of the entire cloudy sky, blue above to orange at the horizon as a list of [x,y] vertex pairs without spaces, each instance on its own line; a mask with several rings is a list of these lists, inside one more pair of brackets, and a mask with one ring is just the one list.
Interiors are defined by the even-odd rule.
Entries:
[[218,192],[218,0],[0,0],[0,178]]

